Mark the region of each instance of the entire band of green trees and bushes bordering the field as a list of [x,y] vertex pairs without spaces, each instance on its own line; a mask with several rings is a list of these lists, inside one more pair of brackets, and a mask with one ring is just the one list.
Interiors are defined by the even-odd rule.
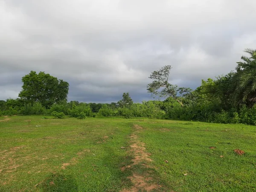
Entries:
[[49,74],[31,72],[22,78],[20,98],[0,101],[0,115],[63,113],[71,117],[124,116],[256,125],[256,50],[245,49],[235,71],[202,80],[192,90],[170,84],[167,65],[149,76],[148,93],[164,101],[134,103],[129,93],[111,104],[67,102],[68,83]]

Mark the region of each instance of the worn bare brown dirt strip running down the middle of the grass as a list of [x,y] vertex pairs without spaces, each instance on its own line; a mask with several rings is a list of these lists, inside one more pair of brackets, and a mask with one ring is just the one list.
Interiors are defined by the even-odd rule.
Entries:
[[[143,128],[139,125],[134,125],[134,134],[130,136],[131,139],[131,153],[134,154],[134,159],[132,160],[133,163],[129,166],[122,167],[122,171],[125,171],[126,169],[132,169],[134,166],[140,164],[144,166],[145,168],[150,168],[146,163],[141,164],[143,162],[150,162],[152,161],[150,159],[149,153],[146,152],[145,143],[138,140],[137,133],[140,131],[143,131]],[[154,183],[154,180],[150,177],[149,174],[140,175],[134,171],[133,175],[131,177],[128,177],[131,182],[134,184],[134,186],[131,189],[123,189],[121,192],[138,192],[138,191],[147,191],[150,192],[153,189],[157,189],[161,186]]]

